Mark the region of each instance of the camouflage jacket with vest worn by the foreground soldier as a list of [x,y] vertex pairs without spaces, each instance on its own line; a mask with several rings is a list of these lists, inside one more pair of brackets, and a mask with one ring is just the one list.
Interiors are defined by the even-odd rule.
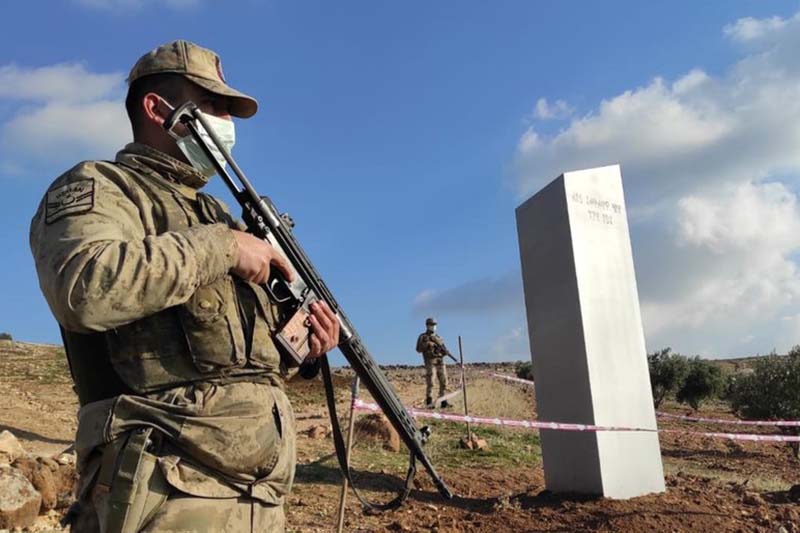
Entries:
[[279,317],[229,273],[240,225],[206,181],[141,144],[80,163],[47,191],[31,250],[82,404],[79,459],[153,426],[181,450],[162,462],[176,487],[277,503],[294,475]]

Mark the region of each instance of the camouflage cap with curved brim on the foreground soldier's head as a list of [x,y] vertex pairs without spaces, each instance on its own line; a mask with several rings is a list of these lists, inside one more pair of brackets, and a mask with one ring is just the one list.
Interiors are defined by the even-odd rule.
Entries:
[[214,94],[230,98],[231,114],[248,118],[258,111],[255,98],[240,93],[225,81],[219,56],[189,41],[172,41],[139,58],[128,75],[128,84],[151,74],[181,74]]

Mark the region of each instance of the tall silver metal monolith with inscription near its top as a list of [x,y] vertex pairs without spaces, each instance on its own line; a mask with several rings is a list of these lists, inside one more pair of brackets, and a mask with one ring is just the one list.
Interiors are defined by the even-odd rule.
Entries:
[[[567,172],[516,211],[538,417],[656,429],[618,165]],[[553,492],[665,490],[655,432],[542,430]]]

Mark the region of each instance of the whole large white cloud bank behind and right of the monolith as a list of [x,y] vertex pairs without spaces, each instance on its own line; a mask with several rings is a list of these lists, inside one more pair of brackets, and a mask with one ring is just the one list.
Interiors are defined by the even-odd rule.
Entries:
[[656,77],[555,135],[530,126],[516,189],[621,163],[650,347],[781,351],[800,343],[800,14],[723,33],[748,46],[720,76]]

